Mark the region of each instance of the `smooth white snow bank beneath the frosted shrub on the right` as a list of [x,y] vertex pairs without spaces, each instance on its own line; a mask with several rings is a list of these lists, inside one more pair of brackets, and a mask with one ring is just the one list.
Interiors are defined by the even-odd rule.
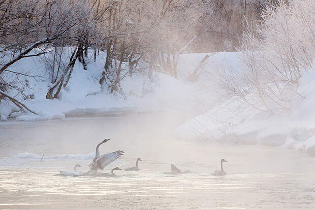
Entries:
[[315,155],[315,67],[305,73],[292,100],[292,110],[275,114],[248,107],[234,97],[178,126],[180,138],[234,144],[261,144]]

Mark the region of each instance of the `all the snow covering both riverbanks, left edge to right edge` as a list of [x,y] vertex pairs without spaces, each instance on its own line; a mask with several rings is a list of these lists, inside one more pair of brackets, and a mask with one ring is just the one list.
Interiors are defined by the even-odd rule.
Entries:
[[[200,66],[200,61],[211,55]],[[183,54],[179,57],[178,79],[157,73],[154,80],[136,74],[121,82],[124,96],[109,94],[98,83],[104,65],[104,54],[97,62],[90,61],[88,71],[77,62],[68,88],[57,99],[46,99],[47,82],[27,81],[25,92],[34,99],[25,104],[39,113],[22,114],[12,104],[0,103],[2,120],[49,120],[98,115],[100,113],[140,113],[175,111],[181,122],[174,133],[178,138],[202,139],[242,145],[279,146],[315,155],[315,73],[305,73],[300,79],[291,110],[262,112],[248,106],[239,97],[229,98],[214,88],[217,71],[239,71],[237,52]],[[45,72],[41,60],[25,58],[16,67]],[[196,70],[197,69],[197,70]],[[190,81],[192,73],[197,81]],[[195,76],[196,76],[195,75]],[[45,78],[45,74],[42,75]],[[93,81],[93,82],[91,82]],[[5,121],[3,121],[5,122]]]

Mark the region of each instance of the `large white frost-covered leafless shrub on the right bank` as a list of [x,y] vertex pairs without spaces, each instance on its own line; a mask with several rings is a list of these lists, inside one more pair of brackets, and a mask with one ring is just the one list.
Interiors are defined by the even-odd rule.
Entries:
[[261,23],[247,25],[240,72],[222,74],[221,86],[261,111],[290,109],[301,75],[315,58],[315,2],[266,4]]

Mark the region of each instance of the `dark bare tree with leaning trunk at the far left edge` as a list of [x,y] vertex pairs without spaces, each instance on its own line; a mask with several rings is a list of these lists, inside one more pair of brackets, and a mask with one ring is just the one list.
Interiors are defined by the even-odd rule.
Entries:
[[[45,47],[67,37],[78,23],[75,1],[12,0],[0,2],[0,89],[1,98],[22,111],[30,111],[19,100],[27,98],[19,88],[19,76],[37,77],[15,71],[14,64],[45,53]],[[40,51],[34,51],[43,47]],[[15,92],[20,94],[17,94]],[[22,97],[13,97],[10,94]],[[33,111],[30,111],[33,112]]]

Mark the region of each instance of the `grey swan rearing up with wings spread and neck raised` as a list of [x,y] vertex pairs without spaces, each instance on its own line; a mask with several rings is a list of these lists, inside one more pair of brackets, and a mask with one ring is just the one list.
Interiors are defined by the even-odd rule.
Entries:
[[92,160],[92,162],[89,164],[89,167],[91,170],[97,171],[98,169],[104,169],[105,166],[107,166],[109,163],[117,160],[119,157],[121,157],[124,153],[124,151],[118,150],[116,152],[100,155],[99,147],[108,142],[110,138],[104,139],[98,146],[96,147],[95,157]]

